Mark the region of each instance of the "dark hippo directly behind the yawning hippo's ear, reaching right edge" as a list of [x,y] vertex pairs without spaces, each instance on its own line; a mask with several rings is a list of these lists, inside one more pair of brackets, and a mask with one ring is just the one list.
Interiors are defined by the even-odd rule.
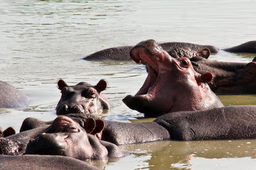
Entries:
[[[220,62],[204,57],[192,57],[191,63],[197,73],[211,72],[213,80],[209,87],[217,94],[255,94],[256,62]],[[255,60],[255,59],[253,59]]]

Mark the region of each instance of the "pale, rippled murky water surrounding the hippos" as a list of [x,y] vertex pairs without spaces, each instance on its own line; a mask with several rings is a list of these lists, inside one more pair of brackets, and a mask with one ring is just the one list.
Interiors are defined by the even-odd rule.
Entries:
[[[0,76],[29,96],[29,108],[0,109],[0,125],[16,131],[26,117],[52,120],[60,99],[58,78],[68,85],[108,81],[113,109],[106,120],[136,121],[122,98],[140,89],[147,73],[135,62],[92,62],[84,55],[146,39],[218,48],[256,38],[256,1],[0,1]],[[249,62],[255,54],[211,55],[211,60]],[[256,97],[220,96],[225,104],[256,104]],[[148,121],[148,120],[145,120]],[[255,169],[256,140],[158,141],[120,146],[117,160],[89,161],[105,169]]]

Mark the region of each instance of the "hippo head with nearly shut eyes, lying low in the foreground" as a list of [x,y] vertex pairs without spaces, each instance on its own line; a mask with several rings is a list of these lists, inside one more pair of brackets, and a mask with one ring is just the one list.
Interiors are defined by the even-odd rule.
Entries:
[[104,129],[103,120],[85,118],[83,122],[81,127],[66,116],[56,118],[45,132],[29,141],[26,154],[63,155],[79,160],[123,156],[116,145],[95,136]]

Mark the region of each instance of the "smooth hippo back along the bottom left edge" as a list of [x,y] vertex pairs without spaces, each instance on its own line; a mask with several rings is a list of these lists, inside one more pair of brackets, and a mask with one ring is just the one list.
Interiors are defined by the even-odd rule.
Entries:
[[0,155],[0,169],[88,169],[91,166],[82,160],[57,155]]

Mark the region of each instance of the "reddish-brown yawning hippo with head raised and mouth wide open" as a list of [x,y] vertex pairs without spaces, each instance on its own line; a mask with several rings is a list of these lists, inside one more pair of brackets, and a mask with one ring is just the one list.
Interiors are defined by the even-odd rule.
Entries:
[[222,107],[207,83],[212,74],[196,73],[186,57],[174,59],[153,39],[141,41],[130,52],[131,58],[147,66],[148,76],[135,96],[123,101],[132,110],[156,117],[175,111],[195,111]]

